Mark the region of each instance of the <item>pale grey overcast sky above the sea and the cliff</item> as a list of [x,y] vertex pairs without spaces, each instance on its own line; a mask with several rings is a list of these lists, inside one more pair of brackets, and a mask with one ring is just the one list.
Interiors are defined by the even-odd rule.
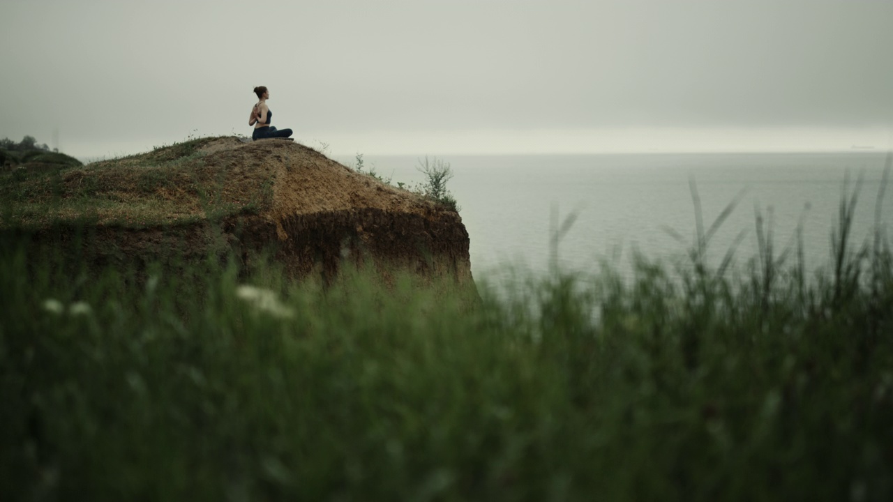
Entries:
[[[122,155],[888,148],[893,1],[0,0],[0,138]],[[57,136],[56,136],[57,135]]]

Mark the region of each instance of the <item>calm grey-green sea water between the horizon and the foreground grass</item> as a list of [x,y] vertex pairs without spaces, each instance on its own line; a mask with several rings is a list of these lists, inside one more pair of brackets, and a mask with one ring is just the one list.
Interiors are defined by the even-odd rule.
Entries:
[[[348,165],[349,160],[341,159]],[[564,270],[594,272],[607,258],[629,270],[637,250],[650,258],[677,259],[696,229],[689,179],[695,180],[705,227],[742,190],[739,205],[711,243],[723,255],[743,230],[737,262],[755,256],[755,210],[772,212],[777,247],[792,246],[803,224],[810,269],[826,264],[845,179],[861,177],[855,238],[875,226],[885,154],[521,155],[444,158],[455,172],[447,187],[471,236],[472,272],[495,278],[506,264],[545,272],[550,218],[578,214],[559,247]],[[413,184],[423,179],[416,157],[367,156],[366,167]],[[893,236],[893,188],[880,207],[881,228]],[[684,239],[680,243],[668,229]],[[717,258],[718,259],[718,258]]]

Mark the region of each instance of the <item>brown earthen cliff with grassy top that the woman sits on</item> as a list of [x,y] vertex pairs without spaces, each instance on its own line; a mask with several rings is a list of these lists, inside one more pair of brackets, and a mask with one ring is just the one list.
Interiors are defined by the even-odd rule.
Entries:
[[[235,255],[250,269],[267,254],[296,279],[328,280],[344,264],[367,264],[473,285],[458,213],[291,141],[205,138],[63,172],[62,180],[62,197],[86,183],[96,187],[92,197],[124,206],[97,204],[86,229],[83,218],[57,219],[27,229],[7,223],[4,233],[28,233],[95,264]],[[129,224],[154,201],[163,210],[153,221]]]

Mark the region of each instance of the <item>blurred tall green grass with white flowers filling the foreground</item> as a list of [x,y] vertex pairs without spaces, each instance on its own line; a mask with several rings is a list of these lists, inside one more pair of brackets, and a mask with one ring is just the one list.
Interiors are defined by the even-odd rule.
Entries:
[[640,258],[473,308],[3,243],[0,498],[889,500],[889,241],[839,227],[813,280],[757,227],[743,277]]

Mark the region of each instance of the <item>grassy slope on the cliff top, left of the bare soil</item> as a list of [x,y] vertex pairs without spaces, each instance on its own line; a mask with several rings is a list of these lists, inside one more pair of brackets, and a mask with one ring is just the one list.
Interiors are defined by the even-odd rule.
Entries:
[[7,174],[0,178],[0,228],[85,222],[145,228],[256,213],[269,205],[268,173],[248,173],[233,187],[225,170],[205,165],[207,154],[199,148],[213,139],[61,171]]

